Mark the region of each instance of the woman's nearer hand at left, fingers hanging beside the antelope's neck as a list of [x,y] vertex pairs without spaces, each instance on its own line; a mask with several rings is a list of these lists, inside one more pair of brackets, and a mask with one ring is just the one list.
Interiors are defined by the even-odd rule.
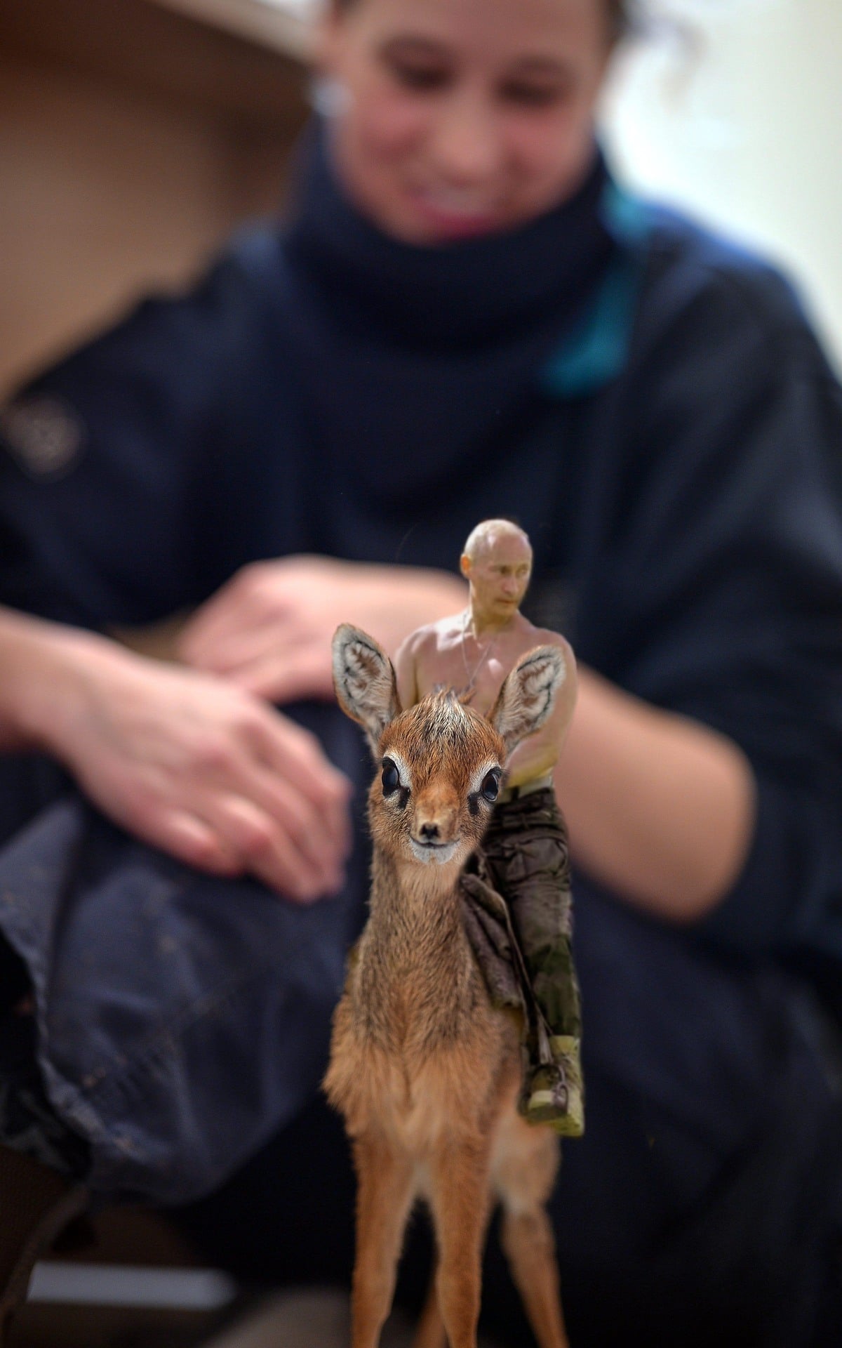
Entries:
[[299,902],[341,886],[349,786],[314,736],[218,678],[13,625],[9,747],[46,748],[112,820],[201,869]]

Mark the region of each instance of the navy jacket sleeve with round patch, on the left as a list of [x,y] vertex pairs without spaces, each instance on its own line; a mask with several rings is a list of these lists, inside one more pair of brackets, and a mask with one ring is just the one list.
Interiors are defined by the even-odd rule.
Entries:
[[143,302],[0,410],[0,601],[90,627],[203,597],[202,462],[248,337],[240,268]]

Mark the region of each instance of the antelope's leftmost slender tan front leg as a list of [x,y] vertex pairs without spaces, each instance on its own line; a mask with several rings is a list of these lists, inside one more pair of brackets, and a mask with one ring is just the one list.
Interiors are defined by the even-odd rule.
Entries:
[[357,1138],[357,1256],[352,1289],[352,1348],[377,1348],[395,1294],[395,1273],[410,1204],[412,1165],[383,1138]]

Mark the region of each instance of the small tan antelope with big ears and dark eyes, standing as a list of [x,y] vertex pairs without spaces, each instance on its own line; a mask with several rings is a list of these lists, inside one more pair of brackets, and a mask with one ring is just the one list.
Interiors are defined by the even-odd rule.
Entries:
[[[370,917],[334,1015],[325,1078],[353,1142],[358,1181],[352,1345],[380,1341],[406,1220],[423,1197],[438,1270],[416,1348],[442,1348],[445,1326],[451,1348],[476,1348],[481,1251],[497,1200],[540,1348],[566,1348],[544,1211],[558,1139],[515,1112],[519,1026],[489,1002],[457,892],[490,817],[478,786],[504,766],[512,744],[447,694],[401,712],[387,656],[354,628],[339,628],[334,639],[334,670],[342,706],[365,725],[377,758],[400,764],[401,775],[387,793],[379,774],[369,793]],[[492,713],[507,739],[513,714],[519,733],[529,733],[529,679],[533,673],[519,675],[516,667]],[[424,838],[442,849],[428,845],[431,860],[419,859]]]

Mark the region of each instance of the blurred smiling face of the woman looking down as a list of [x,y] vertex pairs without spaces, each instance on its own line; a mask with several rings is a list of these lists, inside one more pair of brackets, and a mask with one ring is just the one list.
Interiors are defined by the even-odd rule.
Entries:
[[570,197],[593,158],[605,0],[354,0],[323,23],[331,146],[395,237],[512,229]]

